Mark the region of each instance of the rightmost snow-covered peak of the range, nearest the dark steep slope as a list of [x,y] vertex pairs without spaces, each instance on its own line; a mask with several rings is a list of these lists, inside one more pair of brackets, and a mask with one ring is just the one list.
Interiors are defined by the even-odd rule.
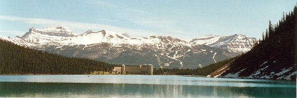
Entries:
[[247,52],[253,47],[255,38],[247,37],[244,35],[231,35],[231,36],[216,36],[206,35],[190,41],[194,45],[209,45],[211,47],[226,49],[229,52]]

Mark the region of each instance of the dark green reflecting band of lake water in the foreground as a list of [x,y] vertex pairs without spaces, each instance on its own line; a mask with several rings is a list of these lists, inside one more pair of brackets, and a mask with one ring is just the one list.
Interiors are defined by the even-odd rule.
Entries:
[[156,84],[0,82],[0,97],[295,98],[296,88]]

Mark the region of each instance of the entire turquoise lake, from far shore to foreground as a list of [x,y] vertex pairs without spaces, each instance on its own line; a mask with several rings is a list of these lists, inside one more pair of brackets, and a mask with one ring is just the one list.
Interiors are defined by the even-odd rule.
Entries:
[[296,98],[296,81],[162,75],[0,75],[0,97]]

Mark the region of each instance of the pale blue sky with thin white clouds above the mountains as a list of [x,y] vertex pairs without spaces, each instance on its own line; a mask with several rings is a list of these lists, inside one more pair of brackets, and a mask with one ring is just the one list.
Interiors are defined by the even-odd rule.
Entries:
[[87,30],[126,32],[130,37],[204,35],[257,39],[290,12],[297,0],[0,0],[0,36],[55,25],[79,35]]

